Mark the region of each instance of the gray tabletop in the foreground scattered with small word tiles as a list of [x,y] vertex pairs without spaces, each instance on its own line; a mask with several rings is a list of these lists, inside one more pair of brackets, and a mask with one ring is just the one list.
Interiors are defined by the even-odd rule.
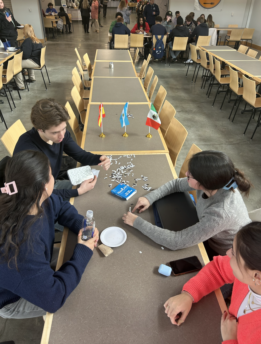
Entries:
[[[146,175],[146,183],[153,188],[173,179],[165,154],[122,157],[118,161],[126,165],[131,158],[135,178]],[[164,171],[160,178],[153,166]],[[94,189],[75,197],[74,205],[81,214],[93,209],[100,232],[109,226],[118,226],[125,230],[127,240],[122,246],[113,248],[114,252],[108,257],[94,250],[79,285],[53,315],[49,344],[220,344],[221,311],[215,293],[192,305],[180,327],[171,324],[163,307],[165,301],[179,294],[184,283],[196,273],[165,277],[158,273],[159,265],[193,255],[204,265],[198,246],[178,251],[163,250],[161,245],[124,224],[123,213],[147,192],[141,187],[142,180],[136,186],[137,194],[128,201],[112,196],[108,187],[110,178],[104,179],[106,174],[110,175],[110,170],[101,169]],[[152,207],[141,216],[154,223]],[[76,235],[69,235],[65,261],[70,259],[75,243]]]

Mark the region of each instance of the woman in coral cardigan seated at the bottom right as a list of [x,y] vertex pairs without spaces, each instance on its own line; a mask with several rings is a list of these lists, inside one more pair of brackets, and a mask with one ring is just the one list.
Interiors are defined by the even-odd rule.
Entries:
[[[221,318],[222,344],[257,344],[261,338],[261,222],[242,227],[227,256],[217,256],[168,299],[165,313],[174,325],[185,321],[193,302],[233,283],[229,313]],[[179,313],[182,315],[179,317]]]

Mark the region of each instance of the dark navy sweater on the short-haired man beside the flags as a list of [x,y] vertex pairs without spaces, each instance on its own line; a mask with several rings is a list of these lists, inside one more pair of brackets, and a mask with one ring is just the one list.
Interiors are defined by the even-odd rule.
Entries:
[[[65,131],[64,139],[60,143],[53,143],[52,145],[45,142],[39,135],[35,128],[25,132],[21,135],[15,145],[14,152],[18,153],[23,150],[38,150],[48,156],[51,162],[53,178],[57,176],[61,169],[63,152],[69,157],[79,161],[82,165],[98,165],[101,155],[86,152],[76,142],[73,141],[68,130]],[[77,189],[74,190],[53,190],[53,193],[62,196],[63,199],[78,196]]]

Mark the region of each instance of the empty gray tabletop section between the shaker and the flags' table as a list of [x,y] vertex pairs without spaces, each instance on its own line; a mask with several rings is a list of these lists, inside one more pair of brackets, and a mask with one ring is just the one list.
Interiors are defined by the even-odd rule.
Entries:
[[93,78],[90,103],[148,103],[139,78]]

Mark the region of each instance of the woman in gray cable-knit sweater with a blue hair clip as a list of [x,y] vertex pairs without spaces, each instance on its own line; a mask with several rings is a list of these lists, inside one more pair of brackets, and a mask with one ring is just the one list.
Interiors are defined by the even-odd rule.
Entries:
[[234,168],[233,162],[225,153],[218,151],[194,154],[188,162],[186,175],[187,178],[174,179],[145,197],[140,197],[132,213],[136,209],[139,213],[144,212],[153,202],[173,192],[197,190],[198,223],[175,232],[175,224],[174,230],[163,229],[131,212],[124,214],[124,223],[171,250],[208,240],[212,250],[226,255],[238,230],[251,222],[238,191],[239,189],[248,196],[251,183],[243,172]]

